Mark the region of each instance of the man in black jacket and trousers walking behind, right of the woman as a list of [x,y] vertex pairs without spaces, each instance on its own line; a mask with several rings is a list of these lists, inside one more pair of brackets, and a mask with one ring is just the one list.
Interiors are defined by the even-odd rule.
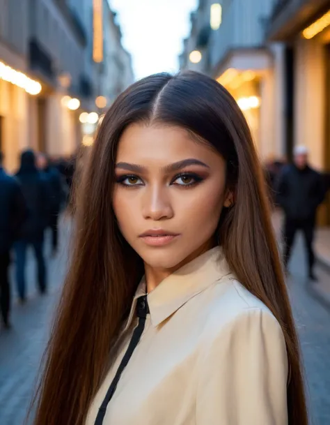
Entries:
[[313,237],[317,207],[324,200],[324,183],[321,175],[308,165],[308,149],[294,149],[294,164],[285,167],[278,180],[277,200],[285,214],[284,264],[288,267],[294,235],[304,232],[308,253],[309,278],[316,280],[313,266],[315,255]]

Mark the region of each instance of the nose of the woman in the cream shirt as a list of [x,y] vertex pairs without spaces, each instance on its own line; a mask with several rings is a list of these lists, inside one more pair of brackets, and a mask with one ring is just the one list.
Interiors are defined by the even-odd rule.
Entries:
[[155,221],[172,218],[174,211],[166,188],[150,187],[143,197],[143,217]]

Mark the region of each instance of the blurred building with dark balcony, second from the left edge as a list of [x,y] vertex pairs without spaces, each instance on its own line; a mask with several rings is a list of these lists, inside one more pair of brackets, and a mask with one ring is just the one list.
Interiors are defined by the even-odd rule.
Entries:
[[[86,0],[79,3],[84,10]],[[30,0],[29,27],[29,65],[44,87],[31,105],[37,128],[32,146],[50,156],[70,156],[81,140],[79,114],[93,100],[84,22],[64,0]]]

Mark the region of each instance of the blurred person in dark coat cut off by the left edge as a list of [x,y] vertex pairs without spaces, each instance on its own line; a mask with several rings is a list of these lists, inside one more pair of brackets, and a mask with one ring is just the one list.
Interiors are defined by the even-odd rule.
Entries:
[[18,181],[6,174],[0,152],[0,308],[3,325],[10,327],[10,250],[26,219],[26,203]]

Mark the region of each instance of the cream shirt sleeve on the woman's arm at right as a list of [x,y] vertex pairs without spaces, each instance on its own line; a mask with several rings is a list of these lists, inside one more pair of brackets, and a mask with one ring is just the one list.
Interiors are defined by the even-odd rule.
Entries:
[[288,357],[267,311],[249,308],[216,337],[198,364],[197,425],[287,425]]

